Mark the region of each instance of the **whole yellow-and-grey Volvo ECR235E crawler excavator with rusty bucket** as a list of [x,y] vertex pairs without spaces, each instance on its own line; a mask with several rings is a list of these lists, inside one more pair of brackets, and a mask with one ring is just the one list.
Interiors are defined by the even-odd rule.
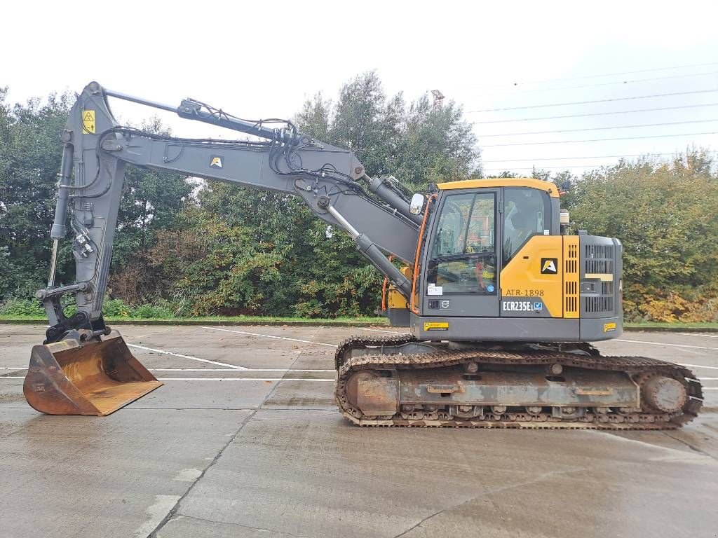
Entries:
[[[245,136],[123,127],[108,98]],[[701,407],[688,369],[589,344],[623,330],[622,246],[569,234],[551,182],[451,181],[411,195],[289,121],[248,121],[193,99],[164,105],[97,82],[73,106],[62,147],[50,278],[37,292],[50,327],[24,382],[41,412],[107,415],[162,384],[102,316],[126,164],[297,196],[386,275],[386,315],[410,329],[337,347],[335,397],[352,423],[661,430]],[[75,282],[64,285],[55,282],[62,240],[75,255]],[[72,316],[60,301],[68,293]]]

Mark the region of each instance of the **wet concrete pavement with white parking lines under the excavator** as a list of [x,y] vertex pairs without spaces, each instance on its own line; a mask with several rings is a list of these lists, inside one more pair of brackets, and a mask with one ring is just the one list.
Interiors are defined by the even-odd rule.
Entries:
[[693,364],[709,389],[683,430],[613,434],[353,427],[332,346],[368,329],[336,327],[122,327],[165,386],[49,417],[22,397],[43,331],[0,325],[2,538],[718,533],[718,335],[600,344]]

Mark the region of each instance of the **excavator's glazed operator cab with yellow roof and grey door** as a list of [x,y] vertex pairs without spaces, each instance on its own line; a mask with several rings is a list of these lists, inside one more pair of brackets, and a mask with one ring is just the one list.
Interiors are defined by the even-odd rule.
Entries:
[[422,310],[499,316],[503,268],[531,237],[559,234],[549,196],[556,187],[536,179],[488,179],[444,183],[439,189]]

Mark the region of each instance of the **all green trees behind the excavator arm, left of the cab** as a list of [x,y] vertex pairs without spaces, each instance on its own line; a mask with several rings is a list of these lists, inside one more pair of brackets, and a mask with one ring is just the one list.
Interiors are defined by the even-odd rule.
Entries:
[[[9,110],[0,92],[0,297],[27,296],[47,275],[58,136],[70,96]],[[371,176],[410,189],[477,175],[479,153],[462,109],[434,110],[387,97],[376,72],[342,86],[337,100],[307,100],[299,130],[350,148]],[[142,128],[168,134],[152,119]],[[129,303],[169,300],[195,313],[335,316],[371,313],[382,275],[344,234],[291,195],[210,184],[192,198],[179,174],[126,167],[108,292]],[[4,255],[6,253],[7,255]],[[60,277],[73,276],[70,242]],[[63,280],[63,281],[65,281]]]

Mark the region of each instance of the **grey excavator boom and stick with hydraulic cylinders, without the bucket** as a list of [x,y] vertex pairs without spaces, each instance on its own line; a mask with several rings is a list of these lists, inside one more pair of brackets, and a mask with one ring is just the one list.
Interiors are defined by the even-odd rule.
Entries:
[[[108,97],[169,110],[254,139],[173,138],[123,127],[113,117]],[[58,341],[73,329],[94,336],[106,331],[102,305],[127,163],[294,194],[317,217],[348,232],[360,253],[409,298],[411,283],[387,255],[414,262],[422,215],[411,212],[409,200],[391,179],[370,178],[351,151],[315,141],[289,121],[246,121],[190,99],[172,108],[91,82],[71,110],[62,142],[52,268],[47,288],[38,292],[50,318],[47,342]],[[56,285],[57,247],[67,237],[68,209],[76,281]],[[78,307],[70,318],[60,304],[67,293],[75,294]]]

